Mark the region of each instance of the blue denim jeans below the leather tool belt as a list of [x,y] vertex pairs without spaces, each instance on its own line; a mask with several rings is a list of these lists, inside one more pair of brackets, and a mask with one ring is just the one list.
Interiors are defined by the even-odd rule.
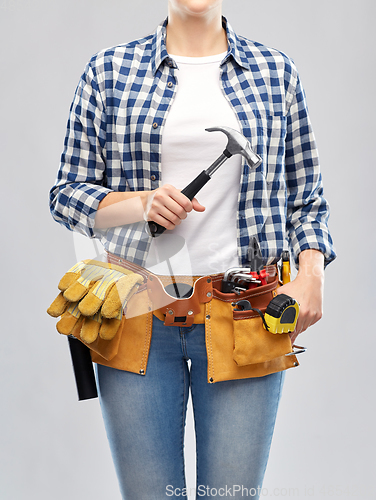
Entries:
[[[187,360],[191,360],[190,369]],[[209,384],[204,325],[153,318],[146,375],[97,365],[124,500],[186,499],[184,426],[192,394],[197,498],[259,498],[284,372]]]

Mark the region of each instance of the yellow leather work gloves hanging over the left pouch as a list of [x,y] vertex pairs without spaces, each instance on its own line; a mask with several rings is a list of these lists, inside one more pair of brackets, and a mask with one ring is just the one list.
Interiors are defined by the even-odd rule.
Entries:
[[90,344],[98,335],[104,340],[115,337],[123,309],[137,291],[143,278],[114,264],[85,260],[75,264],[62,277],[61,290],[47,312],[61,319],[59,333],[69,335],[81,322],[80,337]]

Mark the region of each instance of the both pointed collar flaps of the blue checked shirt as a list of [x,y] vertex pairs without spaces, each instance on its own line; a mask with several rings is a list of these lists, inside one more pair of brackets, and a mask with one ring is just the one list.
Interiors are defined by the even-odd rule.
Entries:
[[[153,75],[156,74],[160,65],[165,59],[169,59],[169,55],[166,48],[166,26],[168,19],[166,18],[156,29],[154,33],[154,38],[152,41],[152,54],[151,54],[151,65]],[[228,51],[226,57],[223,59],[221,64],[224,64],[231,56],[232,58],[245,69],[250,69],[250,63],[248,57],[243,49],[239,37],[236,35],[232,29],[230,23],[225,17],[222,17],[222,25],[226,30],[227,40],[228,40]]]

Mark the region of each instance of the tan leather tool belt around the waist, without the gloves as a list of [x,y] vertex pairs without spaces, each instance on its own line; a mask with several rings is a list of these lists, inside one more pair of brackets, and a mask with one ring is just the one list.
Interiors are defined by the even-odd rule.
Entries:
[[[144,277],[144,283],[129,303],[124,322],[125,337],[138,342],[141,342],[139,337],[142,338],[144,364],[137,370],[138,373],[145,373],[146,370],[148,350],[145,346],[150,344],[153,316],[166,326],[190,327],[197,323],[205,324],[210,383],[258,377],[298,366],[288,334],[266,331],[257,312],[240,311],[235,307],[238,301],[249,300],[254,309],[265,312],[280,285],[277,266],[265,267],[269,274],[265,285],[238,294],[221,292],[222,273],[201,277],[178,276],[173,279],[170,276],[156,276],[111,254],[108,254],[108,260]],[[176,295],[176,288],[180,292],[180,298],[172,296]],[[133,313],[129,308],[137,301],[144,303],[144,310],[145,301],[149,304],[148,312],[143,316],[147,325],[145,335],[142,334],[145,331],[145,327],[141,327],[142,317],[130,317]],[[138,328],[138,334],[135,333],[135,328]],[[126,349],[121,349],[122,345],[123,342],[114,358],[119,368],[124,366],[121,362],[122,355],[129,357],[129,351],[126,353]],[[130,348],[128,342],[128,350]]]

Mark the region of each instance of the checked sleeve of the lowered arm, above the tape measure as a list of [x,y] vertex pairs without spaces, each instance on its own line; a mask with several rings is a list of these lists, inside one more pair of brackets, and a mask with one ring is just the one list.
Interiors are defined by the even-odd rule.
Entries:
[[298,265],[300,252],[311,248],[324,254],[326,266],[336,254],[328,229],[329,205],[324,198],[316,142],[299,77],[287,113],[285,168],[287,232],[295,263]]

